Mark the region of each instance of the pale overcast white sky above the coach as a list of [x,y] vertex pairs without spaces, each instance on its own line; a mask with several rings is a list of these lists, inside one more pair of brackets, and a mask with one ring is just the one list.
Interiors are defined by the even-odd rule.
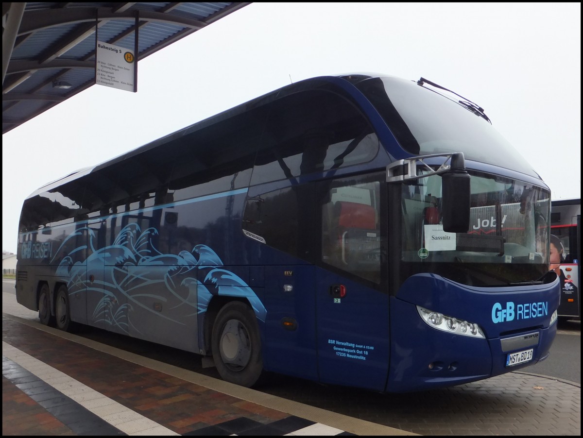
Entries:
[[552,199],[581,197],[581,3],[251,3],[2,135],[2,249],[24,199],[291,82],[424,77],[484,108]]

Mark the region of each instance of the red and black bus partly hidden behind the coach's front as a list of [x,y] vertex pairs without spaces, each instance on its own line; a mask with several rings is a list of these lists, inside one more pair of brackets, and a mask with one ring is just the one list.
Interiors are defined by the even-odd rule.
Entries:
[[[551,202],[551,243],[556,242],[560,258],[561,319],[581,318],[581,199]],[[552,250],[552,249],[551,249]]]

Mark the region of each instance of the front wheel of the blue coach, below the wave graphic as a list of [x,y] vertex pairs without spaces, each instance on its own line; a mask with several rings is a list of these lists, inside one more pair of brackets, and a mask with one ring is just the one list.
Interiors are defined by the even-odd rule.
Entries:
[[231,301],[220,309],[211,342],[215,366],[223,380],[245,387],[257,382],[263,370],[261,337],[248,305]]

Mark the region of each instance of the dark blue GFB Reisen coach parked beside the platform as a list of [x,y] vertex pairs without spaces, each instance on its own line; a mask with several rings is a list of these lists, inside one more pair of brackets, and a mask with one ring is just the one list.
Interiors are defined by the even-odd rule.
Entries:
[[17,301],[263,370],[406,392],[542,361],[550,190],[426,79],[303,80],[24,200]]

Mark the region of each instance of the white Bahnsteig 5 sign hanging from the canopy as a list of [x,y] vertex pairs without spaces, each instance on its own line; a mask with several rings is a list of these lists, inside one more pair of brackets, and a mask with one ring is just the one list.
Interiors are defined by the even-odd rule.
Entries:
[[133,50],[97,41],[96,53],[96,84],[135,91]]

